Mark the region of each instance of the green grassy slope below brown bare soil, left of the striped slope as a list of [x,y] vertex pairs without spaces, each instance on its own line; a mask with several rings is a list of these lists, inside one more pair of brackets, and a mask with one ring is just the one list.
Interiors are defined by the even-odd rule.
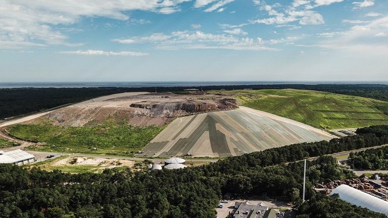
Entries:
[[[19,124],[8,128],[18,137],[40,146],[34,151],[133,156],[151,141],[164,126],[133,127],[126,122],[105,122],[97,126],[60,127],[50,123]],[[92,150],[97,148],[97,150]]]

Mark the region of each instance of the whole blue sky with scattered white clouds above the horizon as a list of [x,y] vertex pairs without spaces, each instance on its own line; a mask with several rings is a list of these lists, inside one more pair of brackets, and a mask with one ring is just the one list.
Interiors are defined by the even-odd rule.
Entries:
[[388,81],[388,1],[0,0],[0,78]]

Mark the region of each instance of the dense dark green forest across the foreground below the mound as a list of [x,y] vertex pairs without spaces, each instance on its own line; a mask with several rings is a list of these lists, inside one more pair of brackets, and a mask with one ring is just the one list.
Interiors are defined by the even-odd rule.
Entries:
[[[2,217],[215,217],[225,193],[289,199],[298,218],[384,217],[318,196],[317,182],[353,178],[352,171],[322,156],[307,162],[306,197],[301,204],[303,162],[307,156],[386,143],[388,126],[372,126],[359,135],[330,142],[302,143],[226,158],[201,167],[152,172],[108,169],[102,174],[65,174],[38,168],[0,165]],[[338,207],[335,205],[338,204]],[[347,212],[344,214],[344,212]],[[353,214],[350,215],[349,214]],[[358,214],[358,215],[356,215]]]

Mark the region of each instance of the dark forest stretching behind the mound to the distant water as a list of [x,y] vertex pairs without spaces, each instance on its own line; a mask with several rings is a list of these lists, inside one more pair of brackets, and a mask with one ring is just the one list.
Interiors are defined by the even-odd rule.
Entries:
[[[237,90],[237,89],[303,89],[325,91],[337,94],[354,95],[388,101],[388,86],[386,85],[238,85],[238,86],[204,86],[204,87],[158,87],[158,92],[182,91],[197,88],[203,90]],[[38,112],[57,106],[80,102],[98,96],[122,92],[147,91],[154,92],[154,87],[148,88],[15,88],[0,89],[0,119]],[[384,111],[384,110],[382,110]]]

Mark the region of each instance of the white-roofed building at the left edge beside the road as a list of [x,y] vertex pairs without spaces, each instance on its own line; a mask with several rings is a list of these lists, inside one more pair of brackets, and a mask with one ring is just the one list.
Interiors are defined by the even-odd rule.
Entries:
[[24,165],[35,162],[35,156],[20,149],[11,152],[0,151],[0,164]]

